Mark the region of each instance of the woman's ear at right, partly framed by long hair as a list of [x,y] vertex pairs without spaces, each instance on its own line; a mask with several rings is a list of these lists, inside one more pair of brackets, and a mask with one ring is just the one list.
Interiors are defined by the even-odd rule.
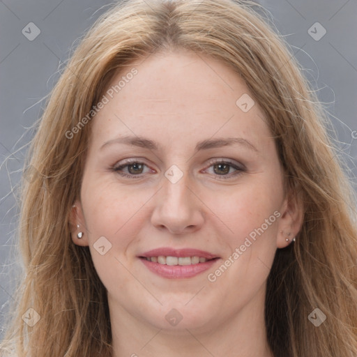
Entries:
[[280,213],[282,215],[278,224],[276,243],[278,248],[285,248],[292,239],[296,238],[303,225],[304,208],[301,197],[296,192],[289,192],[284,199]]

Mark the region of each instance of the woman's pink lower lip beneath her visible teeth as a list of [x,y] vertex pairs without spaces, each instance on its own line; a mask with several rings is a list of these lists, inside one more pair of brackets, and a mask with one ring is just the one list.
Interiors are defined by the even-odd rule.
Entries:
[[204,263],[191,264],[191,265],[166,265],[155,263],[154,261],[140,258],[146,268],[153,273],[160,275],[162,278],[180,279],[180,278],[192,278],[199,273],[207,271],[218,259],[211,259]]

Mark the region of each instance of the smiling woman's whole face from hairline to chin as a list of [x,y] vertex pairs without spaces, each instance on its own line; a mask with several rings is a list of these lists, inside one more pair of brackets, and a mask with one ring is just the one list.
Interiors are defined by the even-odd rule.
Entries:
[[111,314],[176,331],[262,314],[275,250],[297,228],[245,83],[195,52],[152,54],[97,109],[73,240]]

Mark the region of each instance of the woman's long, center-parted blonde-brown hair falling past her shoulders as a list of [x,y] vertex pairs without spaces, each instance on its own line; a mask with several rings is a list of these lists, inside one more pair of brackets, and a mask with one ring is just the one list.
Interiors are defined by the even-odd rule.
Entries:
[[[268,277],[274,356],[357,356],[354,191],[328,135],[328,115],[275,32],[250,1],[121,1],[98,19],[63,70],[31,142],[18,235],[24,277],[1,356],[11,346],[17,357],[110,356],[105,287],[89,248],[70,238],[91,120],[69,139],[66,132],[96,105],[114,73],[170,48],[207,54],[241,76],[266,115],[287,194],[303,202],[296,242],[276,252]],[[22,319],[30,307],[40,316],[32,327]],[[308,319],[317,307],[326,315],[318,328]]]

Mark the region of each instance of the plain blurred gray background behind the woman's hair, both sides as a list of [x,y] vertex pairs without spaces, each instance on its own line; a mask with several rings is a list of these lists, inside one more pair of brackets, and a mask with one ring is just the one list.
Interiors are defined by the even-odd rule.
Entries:
[[[149,1],[149,0],[146,0]],[[356,177],[357,158],[357,2],[353,0],[261,0],[280,33],[292,46],[304,73],[326,103],[340,147]],[[22,174],[28,129],[43,109],[41,101],[58,79],[59,63],[74,41],[107,9],[109,1],[0,1],[0,340],[3,316],[13,299],[14,229],[18,209],[14,195]],[[40,34],[30,41],[35,28]],[[308,30],[319,22],[320,40]],[[321,34],[317,27],[314,36]],[[29,33],[31,31],[31,33]],[[8,158],[8,160],[5,159]],[[356,182],[356,179],[354,179]],[[355,186],[356,187],[356,186]]]

